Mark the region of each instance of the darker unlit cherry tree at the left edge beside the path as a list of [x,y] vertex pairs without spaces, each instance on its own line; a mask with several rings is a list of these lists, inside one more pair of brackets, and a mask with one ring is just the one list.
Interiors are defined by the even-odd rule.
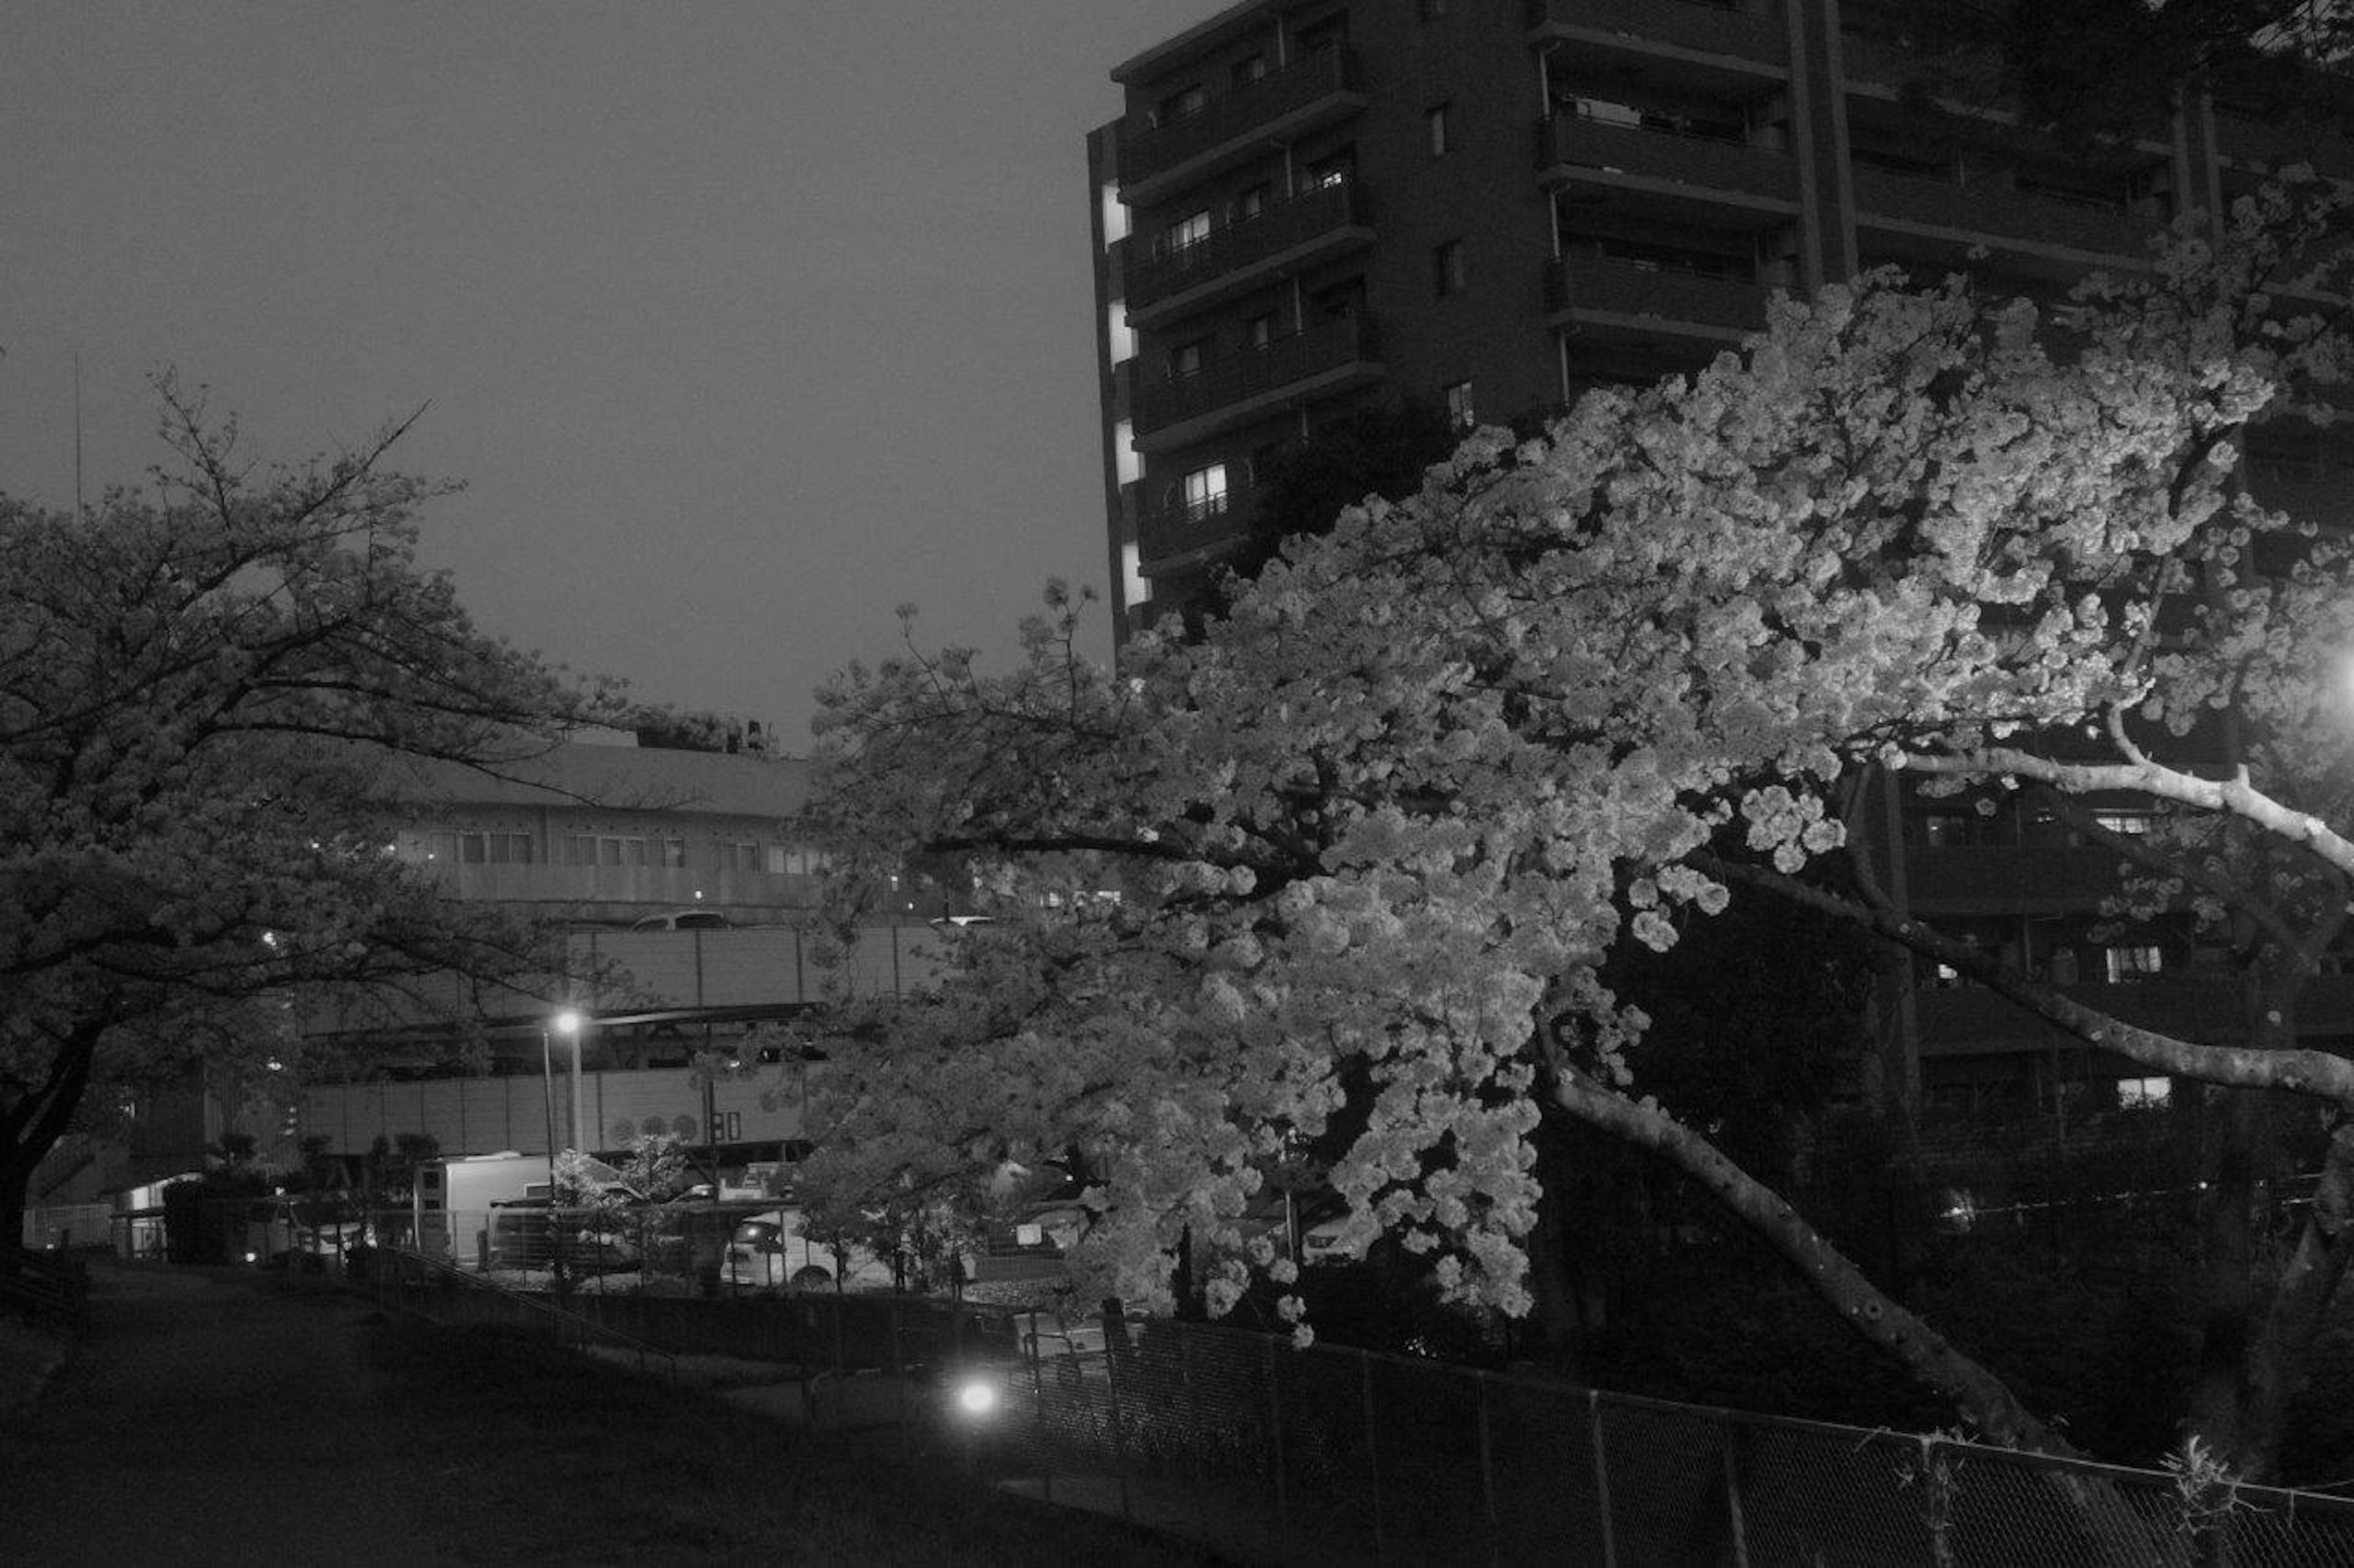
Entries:
[[[619,713],[414,560],[400,428],[294,469],[169,379],[153,485],[0,497],[0,1212],[115,1090],[292,1052],[304,989],[513,970],[523,932],[384,850],[405,763],[497,770]],[[405,426],[403,426],[405,428]],[[5,1241],[14,1245],[14,1231]]]

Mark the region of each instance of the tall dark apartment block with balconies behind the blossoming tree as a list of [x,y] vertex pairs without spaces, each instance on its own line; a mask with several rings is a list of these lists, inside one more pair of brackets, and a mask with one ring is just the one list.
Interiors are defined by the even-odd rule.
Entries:
[[[1104,497],[1121,636],[1208,589],[1285,443],[1412,398],[1471,424],[1707,363],[1796,294],[1897,264],[2057,292],[2180,210],[2354,148],[2220,101],[2086,151],[1999,99],[1928,101],[1895,0],[1243,0],[1111,71],[1088,137]],[[2260,492],[2347,513],[2347,459],[2265,431]],[[2137,817],[2116,800],[2119,831]],[[1921,913],[2104,1005],[2227,1036],[2187,923],[2097,921],[2116,855],[2017,800],[1890,800]],[[1886,1010],[1895,1088],[2156,1095],[1935,975]],[[2347,991],[2340,996],[2340,991]],[[2312,1005],[2342,1043],[2338,977]],[[2222,1022],[2217,1022],[2222,1019]],[[2107,1085],[2123,1083],[2121,1090]]]

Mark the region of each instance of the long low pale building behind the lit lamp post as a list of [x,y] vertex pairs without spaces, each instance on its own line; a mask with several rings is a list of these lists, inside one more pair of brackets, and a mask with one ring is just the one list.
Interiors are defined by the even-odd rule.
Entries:
[[[297,1168],[304,1140],[355,1161],[403,1135],[445,1156],[619,1156],[673,1132],[713,1163],[789,1158],[805,1069],[763,1059],[751,1034],[845,994],[927,984],[927,921],[960,904],[909,881],[902,918],[836,951],[814,923],[824,852],[803,829],[805,760],[607,742],[556,746],[508,777],[417,765],[400,786],[410,810],[386,824],[386,852],[539,923],[546,975],[428,977],[400,1008],[304,1005],[297,1055],[315,1067],[214,1067],[125,1107],[115,1137],[66,1140],[35,1175],[26,1238],[99,1234],[125,1194],[205,1170],[224,1135],[252,1137],[271,1170]],[[742,1071],[690,1071],[697,1055]]]

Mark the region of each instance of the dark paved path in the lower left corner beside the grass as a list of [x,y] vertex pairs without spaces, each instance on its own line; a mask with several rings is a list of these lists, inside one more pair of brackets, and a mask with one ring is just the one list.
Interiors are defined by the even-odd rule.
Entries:
[[5,1563],[421,1563],[431,1460],[374,1307],[212,1269],[92,1269],[89,1344],[0,1427]]

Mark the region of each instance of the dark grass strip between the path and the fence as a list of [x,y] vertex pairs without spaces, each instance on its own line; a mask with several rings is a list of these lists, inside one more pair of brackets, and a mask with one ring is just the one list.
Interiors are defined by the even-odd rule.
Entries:
[[892,1434],[803,1434],[501,1330],[384,1321],[433,1542],[461,1563],[1217,1563],[902,1464]]

